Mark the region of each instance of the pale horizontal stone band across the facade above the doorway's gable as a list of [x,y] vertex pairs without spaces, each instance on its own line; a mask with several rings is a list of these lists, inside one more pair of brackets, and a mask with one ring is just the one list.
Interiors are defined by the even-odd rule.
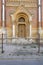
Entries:
[[25,7],[37,7],[37,3],[29,3],[29,2],[23,2],[23,3],[6,3],[6,6],[19,6],[19,5],[24,5]]

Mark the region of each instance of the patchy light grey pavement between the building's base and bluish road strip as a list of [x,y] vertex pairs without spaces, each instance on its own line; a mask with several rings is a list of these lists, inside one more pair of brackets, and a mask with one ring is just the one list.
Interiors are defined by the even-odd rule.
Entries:
[[40,47],[38,54],[38,46],[23,46],[23,45],[3,45],[4,53],[2,54],[2,45],[0,44],[0,59],[40,59],[43,58],[43,47]]

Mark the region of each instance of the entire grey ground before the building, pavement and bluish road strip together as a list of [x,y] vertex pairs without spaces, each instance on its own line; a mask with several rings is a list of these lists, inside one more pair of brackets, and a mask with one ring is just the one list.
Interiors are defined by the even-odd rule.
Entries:
[[43,65],[43,46],[38,54],[37,45],[0,44],[0,65]]

